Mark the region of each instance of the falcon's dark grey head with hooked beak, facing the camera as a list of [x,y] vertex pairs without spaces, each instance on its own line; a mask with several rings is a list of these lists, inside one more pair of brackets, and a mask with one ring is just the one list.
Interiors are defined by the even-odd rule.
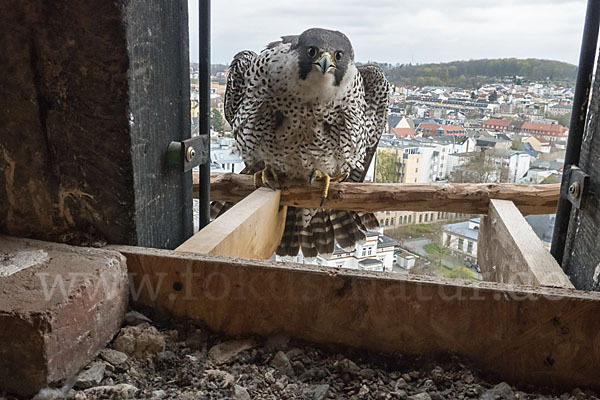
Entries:
[[300,58],[300,78],[309,74],[327,78],[333,76],[333,84],[339,86],[354,64],[354,50],[350,40],[341,32],[313,28],[304,31],[295,46]]

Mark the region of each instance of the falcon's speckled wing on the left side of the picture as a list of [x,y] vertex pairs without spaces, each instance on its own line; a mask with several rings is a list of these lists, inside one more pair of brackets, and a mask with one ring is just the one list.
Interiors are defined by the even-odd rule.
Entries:
[[237,53],[231,61],[225,90],[225,119],[231,126],[233,126],[235,114],[246,96],[245,74],[255,58],[255,52],[244,50]]

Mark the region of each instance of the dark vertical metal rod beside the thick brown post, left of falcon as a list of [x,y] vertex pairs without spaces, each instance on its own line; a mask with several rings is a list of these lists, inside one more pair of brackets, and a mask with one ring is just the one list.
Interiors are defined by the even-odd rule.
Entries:
[[200,165],[199,225],[202,229],[210,222],[210,0],[198,2],[198,126],[200,135],[209,135],[208,162]]

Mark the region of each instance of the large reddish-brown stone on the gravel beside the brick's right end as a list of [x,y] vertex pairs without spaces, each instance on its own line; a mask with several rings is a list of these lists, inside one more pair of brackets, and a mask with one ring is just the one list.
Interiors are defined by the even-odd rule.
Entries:
[[153,326],[128,326],[121,329],[113,349],[136,358],[145,358],[165,350],[165,338]]

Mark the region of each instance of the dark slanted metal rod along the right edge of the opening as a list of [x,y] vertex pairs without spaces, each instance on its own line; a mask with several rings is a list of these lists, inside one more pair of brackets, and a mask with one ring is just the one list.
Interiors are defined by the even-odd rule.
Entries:
[[577,71],[577,82],[575,84],[575,97],[573,99],[569,138],[567,140],[567,150],[565,153],[561,197],[558,201],[556,221],[554,223],[554,234],[552,236],[552,247],[550,250],[561,266],[565,252],[565,241],[569,229],[569,219],[571,216],[571,203],[566,197],[565,190],[566,185],[569,184],[568,179],[570,174],[568,173],[568,170],[571,166],[579,164],[579,155],[581,153],[581,143],[583,141],[583,131],[585,128],[592,85],[592,75],[594,72],[599,28],[600,0],[588,0],[585,26],[583,28],[583,39],[581,41],[581,52],[579,53],[579,69]]

